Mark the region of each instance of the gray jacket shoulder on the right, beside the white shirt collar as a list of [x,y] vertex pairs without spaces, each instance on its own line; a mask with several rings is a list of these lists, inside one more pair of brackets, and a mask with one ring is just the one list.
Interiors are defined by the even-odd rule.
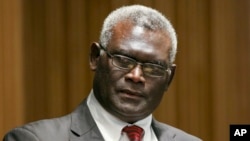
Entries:
[[172,138],[174,141],[201,141],[198,137],[191,135],[181,129],[171,125],[154,120],[153,126],[156,129],[156,134],[161,137]]

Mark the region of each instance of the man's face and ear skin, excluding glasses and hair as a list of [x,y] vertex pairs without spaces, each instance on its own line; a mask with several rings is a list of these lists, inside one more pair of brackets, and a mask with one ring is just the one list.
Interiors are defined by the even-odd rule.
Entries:
[[[163,31],[152,31],[128,21],[113,28],[112,38],[106,47],[111,54],[134,58],[139,62],[168,64],[170,38]],[[170,76],[150,77],[143,74],[141,66],[121,70],[111,63],[105,52],[100,55],[100,45],[91,46],[90,68],[95,71],[93,90],[100,104],[112,115],[134,123],[151,114],[159,105],[175,72],[170,66]]]

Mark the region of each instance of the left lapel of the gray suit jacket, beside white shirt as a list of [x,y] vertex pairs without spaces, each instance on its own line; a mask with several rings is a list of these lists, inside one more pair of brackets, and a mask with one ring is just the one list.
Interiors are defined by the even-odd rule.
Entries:
[[71,114],[70,141],[104,141],[84,100]]

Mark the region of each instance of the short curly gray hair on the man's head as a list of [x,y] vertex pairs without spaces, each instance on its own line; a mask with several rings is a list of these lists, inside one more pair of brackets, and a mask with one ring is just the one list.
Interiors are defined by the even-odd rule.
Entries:
[[177,52],[176,32],[170,21],[159,11],[142,6],[123,6],[111,12],[104,20],[100,35],[100,43],[106,47],[112,37],[113,27],[126,19],[131,20],[136,25],[149,28],[151,30],[162,30],[169,34],[171,39],[171,49],[169,51],[169,61],[173,63]]

